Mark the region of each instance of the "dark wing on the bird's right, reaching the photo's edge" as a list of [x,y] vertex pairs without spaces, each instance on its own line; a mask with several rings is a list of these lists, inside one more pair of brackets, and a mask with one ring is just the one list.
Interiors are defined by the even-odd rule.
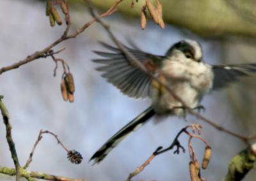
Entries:
[[256,72],[256,63],[239,65],[213,65],[214,81],[212,90],[224,88],[228,83],[239,80],[239,77],[248,76],[250,72]]

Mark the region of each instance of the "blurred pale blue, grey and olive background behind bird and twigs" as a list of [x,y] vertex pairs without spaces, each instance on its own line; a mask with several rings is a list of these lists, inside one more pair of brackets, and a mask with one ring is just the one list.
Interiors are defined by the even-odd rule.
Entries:
[[[163,1],[163,4],[166,2]],[[121,4],[120,14],[116,13],[104,20],[111,25],[121,42],[127,44],[127,39],[131,39],[144,51],[154,54],[163,55],[173,43],[191,38],[202,44],[204,61],[207,63],[255,62],[255,10],[248,13],[248,7],[254,1],[248,1],[252,3],[248,6],[238,6],[240,1],[234,1],[237,4],[225,1],[225,6],[218,4],[219,1],[216,4],[202,3],[201,6],[198,1],[193,2],[186,6],[173,1],[164,4],[165,29],[149,21],[147,29],[141,30],[137,16],[143,1],[135,4],[132,15],[126,11],[130,10],[129,6]],[[71,31],[92,19],[86,6],[76,3],[79,1],[72,1]],[[99,8],[107,8],[97,1],[93,3]],[[110,4],[106,1],[105,5],[109,7]],[[222,8],[218,8],[217,4]],[[199,15],[195,13],[198,7],[201,11],[196,13]],[[205,11],[207,7],[211,8]],[[194,11],[195,15],[190,14],[189,10]],[[1,0],[0,12],[0,67],[11,65],[43,49],[59,38],[65,28],[49,26],[44,1]],[[175,15],[175,12],[179,12],[180,16]],[[95,23],[76,39],[54,48],[54,51],[66,48],[56,58],[65,59],[74,75],[76,93],[72,104],[64,102],[61,97],[63,70],[59,65],[57,75],[53,77],[55,63],[51,58],[37,59],[0,75],[0,94],[4,95],[4,104],[10,111],[20,164],[26,163],[40,129],[51,130],[58,134],[58,138],[70,150],[76,149],[83,155],[82,164],[68,162],[66,152],[56,144],[56,139],[45,134],[36,148],[29,170],[88,180],[125,180],[157,146],[169,146],[182,127],[201,123],[202,135],[211,144],[213,154],[209,168],[202,171],[202,175],[207,180],[222,180],[230,159],[246,145],[193,116],[188,117],[188,122],[177,118],[166,118],[166,121],[157,125],[149,122],[120,143],[99,165],[92,166],[92,162],[88,162],[108,138],[150,105],[150,100],[133,100],[122,95],[100,77],[100,73],[95,70],[97,65],[91,61],[98,57],[92,51],[104,50],[99,41],[113,44],[104,29]],[[230,85],[226,90],[207,95],[202,102],[206,108],[204,116],[239,134],[255,134],[255,84],[255,76],[252,76],[239,84]],[[13,161],[3,123],[0,124],[0,138],[0,166],[12,168]],[[182,136],[180,142],[187,146],[188,137]],[[204,144],[200,141],[193,144],[201,158]],[[164,153],[156,157],[134,180],[189,180],[188,164],[188,152],[180,155]],[[255,177],[255,170],[252,170],[244,180],[255,180]],[[14,179],[0,175],[0,180]]]

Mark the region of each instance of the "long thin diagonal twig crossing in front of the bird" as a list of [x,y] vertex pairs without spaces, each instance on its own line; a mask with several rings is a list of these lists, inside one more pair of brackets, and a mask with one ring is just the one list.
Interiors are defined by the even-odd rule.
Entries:
[[154,81],[156,81],[157,83],[161,84],[161,86],[163,86],[163,88],[165,88],[176,100],[178,100],[182,106],[184,106],[184,108],[186,108],[188,110],[188,112],[194,116],[196,116],[197,118],[200,118],[200,120],[208,123],[209,125],[211,125],[212,127],[215,127],[216,129],[226,132],[227,134],[230,134],[236,138],[239,138],[241,140],[243,140],[244,142],[248,143],[250,140],[252,139],[256,139],[256,136],[253,137],[247,137],[247,136],[243,136],[241,134],[237,134],[236,132],[232,132],[231,130],[225,129],[223,127],[221,127],[220,125],[212,122],[211,120],[205,118],[204,116],[202,116],[200,113],[196,113],[195,111],[193,111],[193,109],[191,109],[191,107],[189,107],[188,105],[186,105],[186,103],[184,102],[184,100],[182,100],[182,98],[178,97],[176,95],[176,93],[172,90],[172,88],[170,86],[168,86],[167,84],[164,84],[162,81],[160,81],[157,77],[155,77],[154,75],[152,75],[152,73],[143,65],[143,63],[141,63],[136,57],[134,57],[131,52],[127,51],[127,49],[125,49],[125,47],[122,45],[122,43],[120,43],[118,41],[118,39],[115,37],[115,35],[113,34],[113,32],[111,31],[111,29],[109,28],[109,25],[106,24],[103,20],[98,19],[97,15],[95,13],[95,10],[92,6],[92,2],[90,0],[84,0],[86,3],[88,3],[89,6],[89,10],[90,13],[92,14],[92,16],[97,19],[97,22],[99,22],[104,29],[106,29],[106,31],[109,33],[109,36],[111,37],[111,39],[113,40],[113,42],[115,42],[116,46],[120,49],[120,51],[122,51],[125,56],[127,56],[127,58],[129,60],[131,60],[131,63],[133,63],[136,67],[140,68],[145,74],[147,74],[151,79],[154,79]]

